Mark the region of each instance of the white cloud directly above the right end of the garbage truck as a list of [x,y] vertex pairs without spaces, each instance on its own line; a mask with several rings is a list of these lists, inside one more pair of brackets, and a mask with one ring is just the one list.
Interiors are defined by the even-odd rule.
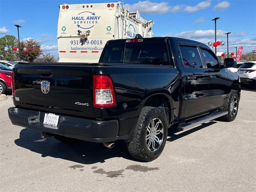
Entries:
[[129,5],[130,12],[150,13],[150,14],[164,14],[169,11],[170,6],[168,2],[151,2],[151,1],[139,1]]

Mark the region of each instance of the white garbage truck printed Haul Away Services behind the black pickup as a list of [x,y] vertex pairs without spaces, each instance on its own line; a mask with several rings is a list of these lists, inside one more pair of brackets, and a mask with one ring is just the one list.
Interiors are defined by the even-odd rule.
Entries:
[[152,20],[128,5],[115,3],[84,3],[59,5],[59,62],[98,62],[108,40],[153,37]]

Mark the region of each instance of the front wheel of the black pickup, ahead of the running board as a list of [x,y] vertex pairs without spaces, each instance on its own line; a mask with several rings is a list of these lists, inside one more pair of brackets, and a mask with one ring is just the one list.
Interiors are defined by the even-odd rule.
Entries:
[[239,98],[236,90],[231,90],[230,97],[228,100],[228,105],[225,110],[228,111],[228,114],[219,118],[219,120],[231,122],[234,121],[238,112]]

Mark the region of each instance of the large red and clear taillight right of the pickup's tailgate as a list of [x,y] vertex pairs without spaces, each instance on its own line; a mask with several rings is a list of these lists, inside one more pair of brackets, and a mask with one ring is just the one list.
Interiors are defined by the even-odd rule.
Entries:
[[93,106],[111,107],[116,105],[114,86],[110,77],[105,75],[93,76]]

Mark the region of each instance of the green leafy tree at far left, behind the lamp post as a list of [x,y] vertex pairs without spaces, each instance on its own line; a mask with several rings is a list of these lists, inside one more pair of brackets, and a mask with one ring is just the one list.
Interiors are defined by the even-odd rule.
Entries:
[[4,60],[16,60],[16,55],[12,48],[17,46],[17,39],[13,35],[6,35],[0,38],[0,55],[4,56]]

